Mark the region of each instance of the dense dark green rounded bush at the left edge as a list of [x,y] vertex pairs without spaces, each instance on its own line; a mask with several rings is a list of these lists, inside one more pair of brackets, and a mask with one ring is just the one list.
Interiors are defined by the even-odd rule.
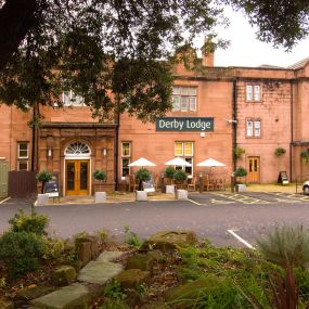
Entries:
[[12,278],[37,270],[42,255],[41,237],[35,233],[9,231],[0,239],[0,258],[5,261]]

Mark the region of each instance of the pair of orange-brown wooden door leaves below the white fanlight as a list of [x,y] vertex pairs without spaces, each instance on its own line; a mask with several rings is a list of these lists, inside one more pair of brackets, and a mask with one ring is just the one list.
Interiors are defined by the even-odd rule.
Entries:
[[68,159],[65,162],[65,194],[89,194],[89,159]]

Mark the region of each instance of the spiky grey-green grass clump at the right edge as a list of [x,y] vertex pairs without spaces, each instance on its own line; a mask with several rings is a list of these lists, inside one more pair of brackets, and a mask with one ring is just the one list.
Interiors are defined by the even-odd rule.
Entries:
[[302,226],[275,227],[257,240],[260,253],[270,261],[286,268],[305,266],[309,261],[309,232]]

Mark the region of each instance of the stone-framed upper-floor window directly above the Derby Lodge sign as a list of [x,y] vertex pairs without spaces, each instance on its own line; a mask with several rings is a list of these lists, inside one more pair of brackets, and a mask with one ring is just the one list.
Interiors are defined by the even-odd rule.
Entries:
[[196,111],[196,87],[172,87],[172,111]]

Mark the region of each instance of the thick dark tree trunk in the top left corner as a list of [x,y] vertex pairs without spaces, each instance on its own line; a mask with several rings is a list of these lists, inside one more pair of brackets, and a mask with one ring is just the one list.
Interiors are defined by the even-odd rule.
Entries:
[[35,23],[36,0],[7,0],[0,10],[0,70]]

